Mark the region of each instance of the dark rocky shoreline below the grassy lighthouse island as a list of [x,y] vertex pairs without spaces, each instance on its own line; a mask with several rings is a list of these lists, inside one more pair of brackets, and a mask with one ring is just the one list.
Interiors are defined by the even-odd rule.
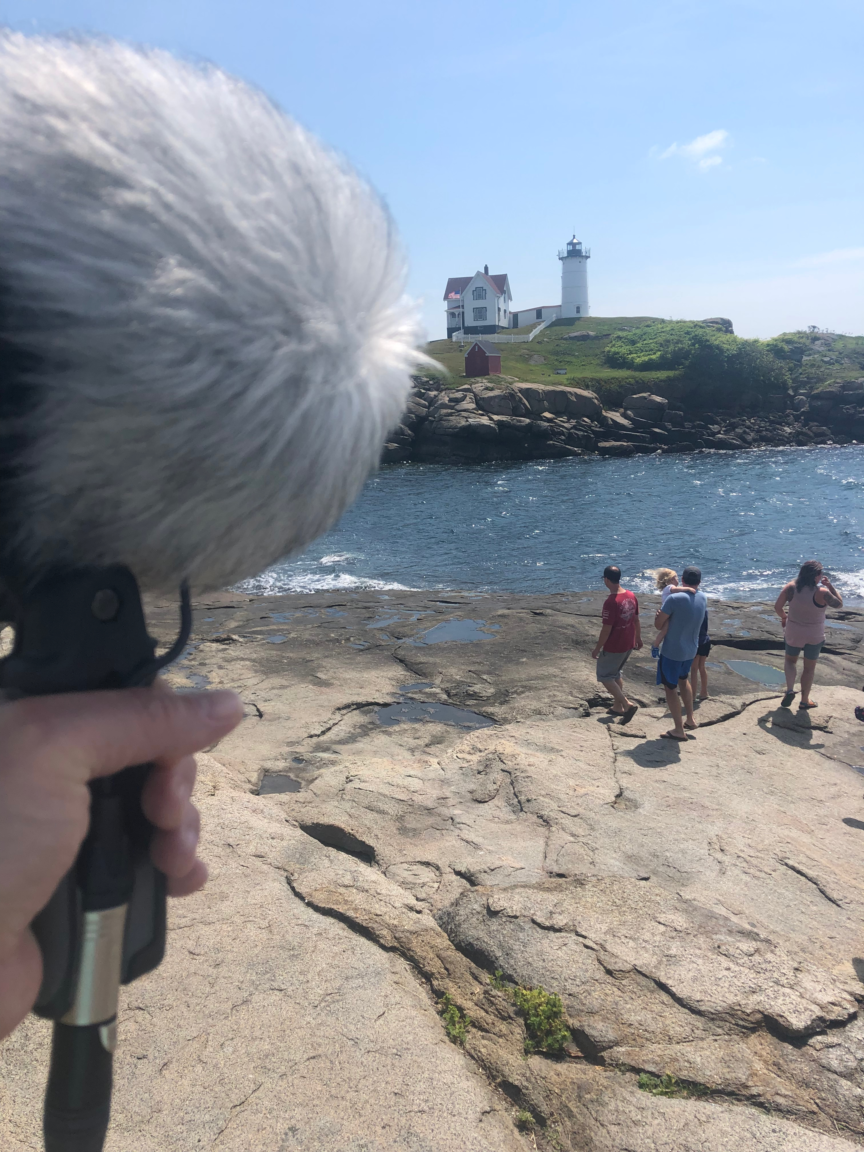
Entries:
[[445,388],[415,378],[381,462],[554,460],[598,453],[681,453],[805,447],[864,440],[864,378],[812,395],[753,397],[755,408],[683,411],[652,393],[605,410],[596,393],[487,377]]

